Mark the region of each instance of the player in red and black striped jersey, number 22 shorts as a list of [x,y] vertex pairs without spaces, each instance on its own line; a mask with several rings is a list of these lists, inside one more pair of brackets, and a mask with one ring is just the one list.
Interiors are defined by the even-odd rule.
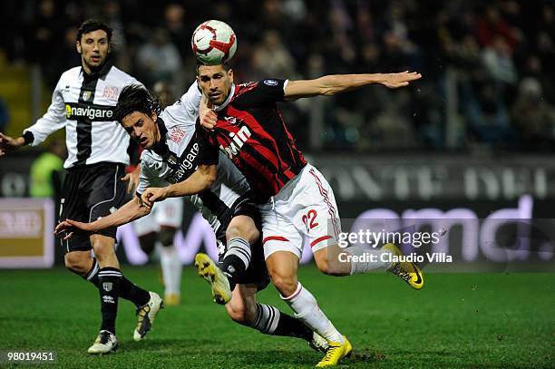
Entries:
[[[310,239],[316,265],[325,274],[346,276],[385,267],[416,289],[424,286],[424,278],[412,263],[375,262],[374,258],[362,257],[374,254],[375,259],[383,260],[384,254],[400,255],[393,244],[374,250],[338,247],[341,225],[333,190],[297,150],[277,102],[334,95],[370,83],[398,88],[420,79],[421,75],[343,74],[308,81],[267,79],[235,85],[233,71],[227,64],[200,64],[197,78],[207,107],[213,108],[201,112],[201,124],[209,130],[204,140],[209,143],[207,146],[225,152],[256,192],[270,277],[295,315],[326,338],[329,348],[316,366],[335,365],[350,354],[352,347],[320,310],[315,297],[297,280],[304,236]],[[215,170],[216,166],[212,167],[200,168],[197,175],[164,189],[146,189],[142,200],[149,204],[166,197],[189,195],[191,189],[203,186],[209,176],[201,173]]]

